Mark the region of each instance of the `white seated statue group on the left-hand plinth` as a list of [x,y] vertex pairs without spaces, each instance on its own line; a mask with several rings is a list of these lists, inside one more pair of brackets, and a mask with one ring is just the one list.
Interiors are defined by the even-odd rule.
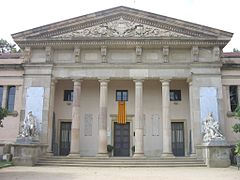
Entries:
[[35,137],[37,134],[36,119],[33,116],[32,111],[30,111],[23,121],[20,136]]

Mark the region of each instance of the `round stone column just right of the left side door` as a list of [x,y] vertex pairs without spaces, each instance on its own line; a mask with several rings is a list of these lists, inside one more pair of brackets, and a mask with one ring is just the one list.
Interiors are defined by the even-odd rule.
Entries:
[[70,156],[80,156],[80,94],[81,80],[73,80],[73,105]]

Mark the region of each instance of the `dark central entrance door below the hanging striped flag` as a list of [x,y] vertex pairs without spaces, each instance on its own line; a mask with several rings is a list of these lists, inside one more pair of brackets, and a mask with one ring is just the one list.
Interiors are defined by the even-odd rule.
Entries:
[[130,123],[114,123],[114,156],[130,155]]

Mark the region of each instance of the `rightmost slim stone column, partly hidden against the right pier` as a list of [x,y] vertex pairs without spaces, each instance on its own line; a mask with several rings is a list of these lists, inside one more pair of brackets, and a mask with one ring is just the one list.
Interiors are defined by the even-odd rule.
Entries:
[[192,80],[188,80],[189,84],[189,110],[190,110],[190,124],[191,124],[191,156],[196,156],[195,141],[194,141],[194,119],[193,119],[193,90]]

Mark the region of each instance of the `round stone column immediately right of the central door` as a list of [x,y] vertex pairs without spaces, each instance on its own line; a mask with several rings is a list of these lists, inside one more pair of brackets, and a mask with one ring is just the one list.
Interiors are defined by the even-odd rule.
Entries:
[[135,158],[144,157],[143,80],[135,80]]

